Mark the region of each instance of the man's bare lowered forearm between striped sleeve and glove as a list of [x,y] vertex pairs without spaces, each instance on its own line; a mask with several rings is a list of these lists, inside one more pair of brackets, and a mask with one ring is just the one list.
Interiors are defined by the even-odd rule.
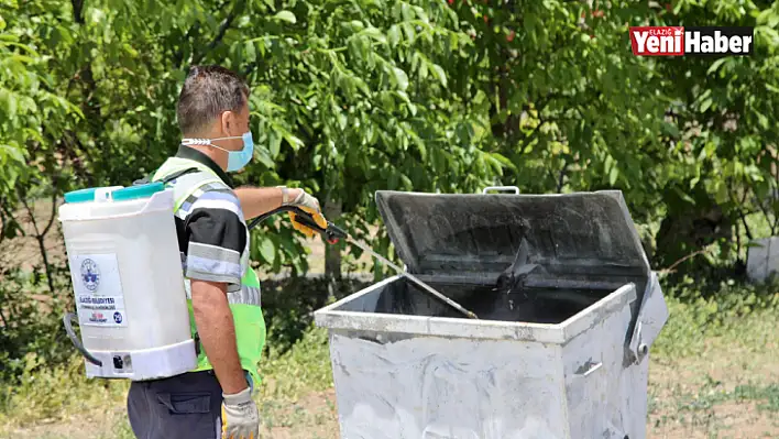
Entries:
[[238,358],[235,326],[227,300],[227,284],[191,281],[193,314],[206,355],[213,365],[222,392],[237,394],[246,387]]

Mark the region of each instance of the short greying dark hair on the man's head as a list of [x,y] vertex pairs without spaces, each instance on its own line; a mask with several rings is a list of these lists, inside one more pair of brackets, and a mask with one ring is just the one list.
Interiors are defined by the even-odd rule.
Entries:
[[191,66],[178,96],[178,128],[183,134],[199,132],[223,111],[239,111],[249,86],[221,66]]

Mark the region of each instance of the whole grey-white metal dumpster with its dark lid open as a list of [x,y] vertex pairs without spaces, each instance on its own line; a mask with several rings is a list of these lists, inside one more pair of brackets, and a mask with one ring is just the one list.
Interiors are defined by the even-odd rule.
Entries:
[[[649,347],[668,318],[621,191],[378,191],[409,273],[317,310],[329,330],[341,437],[646,436]],[[498,275],[520,245],[529,267]]]

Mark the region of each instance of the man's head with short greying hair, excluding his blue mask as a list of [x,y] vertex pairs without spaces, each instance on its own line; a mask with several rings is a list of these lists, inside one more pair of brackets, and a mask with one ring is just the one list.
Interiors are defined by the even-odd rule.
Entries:
[[227,168],[223,150],[243,150],[241,135],[249,132],[249,87],[227,68],[193,66],[178,97],[177,117],[184,139],[219,139],[193,147]]

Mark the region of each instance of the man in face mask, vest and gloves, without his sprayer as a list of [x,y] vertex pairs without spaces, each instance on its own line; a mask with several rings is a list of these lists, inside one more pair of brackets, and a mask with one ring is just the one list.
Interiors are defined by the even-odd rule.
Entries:
[[[227,173],[252,158],[246,84],[220,66],[193,66],[177,119],[183,139],[151,177],[174,191],[193,337],[194,371],[133,382],[128,417],[139,439],[256,439],[252,393],[265,344],[260,283],[249,266],[246,219],[296,206],[323,227],[319,201],[299,188],[240,187]],[[293,221],[297,230],[315,232]]]

